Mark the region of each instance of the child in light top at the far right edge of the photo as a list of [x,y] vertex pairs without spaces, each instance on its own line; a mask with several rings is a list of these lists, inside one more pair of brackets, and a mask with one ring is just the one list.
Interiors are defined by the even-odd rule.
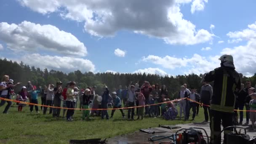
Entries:
[[[252,93],[249,96],[251,96],[251,99],[252,99],[249,103],[250,110],[256,110],[256,93]],[[250,112],[250,119],[251,119],[251,126],[255,131],[256,128],[254,126],[254,123],[256,121],[256,112]]]

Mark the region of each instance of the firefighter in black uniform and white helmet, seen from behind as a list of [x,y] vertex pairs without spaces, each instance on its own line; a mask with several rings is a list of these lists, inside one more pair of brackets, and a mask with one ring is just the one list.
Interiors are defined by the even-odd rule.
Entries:
[[[213,82],[213,96],[211,99],[211,143],[221,144],[221,123],[223,128],[232,126],[235,108],[235,88],[241,88],[241,81],[231,55],[220,57],[221,67],[205,74],[205,82]],[[227,144],[227,133],[232,128],[224,131],[224,143]]]

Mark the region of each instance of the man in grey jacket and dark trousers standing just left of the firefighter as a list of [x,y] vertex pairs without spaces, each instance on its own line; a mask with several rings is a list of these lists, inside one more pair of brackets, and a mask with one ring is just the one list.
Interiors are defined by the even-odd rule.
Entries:
[[[203,121],[203,123],[207,123],[209,120],[209,116],[211,120],[211,111],[210,111],[210,107],[208,106],[210,105],[210,101],[213,96],[213,88],[208,82],[203,81],[203,86],[201,88],[200,96],[201,96],[201,102],[205,104],[203,105],[203,111],[205,115],[205,120]],[[209,112],[209,115],[208,115],[208,112]]]

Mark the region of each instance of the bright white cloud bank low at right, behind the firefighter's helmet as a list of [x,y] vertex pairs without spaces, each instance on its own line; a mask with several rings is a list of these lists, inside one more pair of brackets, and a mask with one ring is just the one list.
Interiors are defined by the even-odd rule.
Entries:
[[235,46],[234,48],[224,48],[216,56],[208,56],[208,58],[194,54],[191,58],[176,58],[173,56],[152,56],[143,57],[143,61],[149,61],[153,64],[161,65],[168,69],[175,69],[176,67],[184,67],[189,70],[184,71],[185,74],[189,73],[205,73],[219,67],[219,57],[223,54],[231,54],[234,57],[234,63],[237,72],[243,73],[246,76],[252,76],[255,73],[256,65],[256,23],[249,24],[248,29],[241,31],[229,32],[227,34],[233,40],[242,39],[248,40],[246,45]]

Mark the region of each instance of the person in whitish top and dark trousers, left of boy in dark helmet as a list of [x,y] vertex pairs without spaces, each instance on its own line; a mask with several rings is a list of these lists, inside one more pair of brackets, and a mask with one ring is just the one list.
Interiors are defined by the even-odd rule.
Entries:
[[[46,106],[53,106],[53,99],[54,99],[53,89],[54,89],[54,85],[53,84],[48,85],[47,94],[46,94]],[[53,108],[50,107],[49,114],[52,113],[52,110],[53,110]],[[47,107],[44,107],[43,114],[45,115],[46,112],[47,112]]]

